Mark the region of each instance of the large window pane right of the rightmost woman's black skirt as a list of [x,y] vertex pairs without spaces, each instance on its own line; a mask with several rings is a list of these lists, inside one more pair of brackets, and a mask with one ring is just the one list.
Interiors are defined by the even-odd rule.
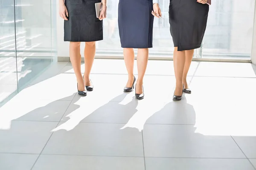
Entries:
[[201,57],[250,59],[255,0],[213,0]]

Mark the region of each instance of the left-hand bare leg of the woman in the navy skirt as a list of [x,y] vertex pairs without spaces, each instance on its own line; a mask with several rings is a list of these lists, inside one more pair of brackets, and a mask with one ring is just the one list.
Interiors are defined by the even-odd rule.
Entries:
[[131,88],[134,82],[134,49],[133,48],[124,48],[124,59],[125,66],[128,72],[128,82],[126,84],[127,88]]

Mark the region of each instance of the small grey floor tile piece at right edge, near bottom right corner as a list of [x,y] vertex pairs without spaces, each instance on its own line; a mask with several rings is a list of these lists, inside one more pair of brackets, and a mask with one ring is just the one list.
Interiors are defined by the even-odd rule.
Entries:
[[256,159],[256,136],[233,136],[233,138],[247,158]]

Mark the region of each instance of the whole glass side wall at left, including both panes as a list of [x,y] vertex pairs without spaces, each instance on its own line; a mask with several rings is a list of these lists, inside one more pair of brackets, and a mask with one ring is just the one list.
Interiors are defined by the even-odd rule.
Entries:
[[51,0],[0,0],[0,106],[54,61],[54,5]]

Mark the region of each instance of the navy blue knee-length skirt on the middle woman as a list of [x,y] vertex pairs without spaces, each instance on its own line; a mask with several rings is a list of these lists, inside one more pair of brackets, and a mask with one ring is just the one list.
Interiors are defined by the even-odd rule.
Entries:
[[119,0],[118,26],[122,48],[152,48],[152,0]]

